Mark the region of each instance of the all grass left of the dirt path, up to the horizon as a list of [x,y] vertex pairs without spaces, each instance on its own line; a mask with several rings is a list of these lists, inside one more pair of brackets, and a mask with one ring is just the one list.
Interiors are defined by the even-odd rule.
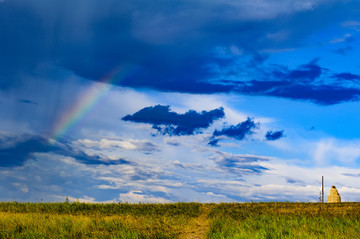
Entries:
[[177,238],[200,212],[200,204],[176,203],[16,206],[0,206],[0,238]]

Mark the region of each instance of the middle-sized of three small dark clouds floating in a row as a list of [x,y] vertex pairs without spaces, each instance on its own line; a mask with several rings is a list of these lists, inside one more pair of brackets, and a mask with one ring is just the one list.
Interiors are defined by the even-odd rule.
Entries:
[[243,140],[247,135],[251,135],[253,133],[253,129],[258,126],[252,119],[247,118],[246,121],[241,122],[237,125],[231,125],[227,128],[223,128],[222,130],[215,130],[213,132],[213,136],[209,142],[209,145],[216,146],[219,142],[219,136],[226,136],[229,138],[234,138],[237,140]]

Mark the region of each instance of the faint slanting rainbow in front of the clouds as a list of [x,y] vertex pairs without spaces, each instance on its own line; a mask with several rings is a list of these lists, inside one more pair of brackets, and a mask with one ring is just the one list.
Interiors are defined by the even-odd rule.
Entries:
[[52,127],[49,139],[52,143],[71,132],[78,122],[102,99],[115,83],[128,75],[132,67],[117,67],[101,78],[97,83],[87,89]]

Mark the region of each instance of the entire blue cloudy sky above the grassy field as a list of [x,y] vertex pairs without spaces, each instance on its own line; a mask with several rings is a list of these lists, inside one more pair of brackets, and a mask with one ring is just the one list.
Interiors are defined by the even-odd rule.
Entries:
[[0,0],[0,201],[359,201],[359,46],[352,0]]

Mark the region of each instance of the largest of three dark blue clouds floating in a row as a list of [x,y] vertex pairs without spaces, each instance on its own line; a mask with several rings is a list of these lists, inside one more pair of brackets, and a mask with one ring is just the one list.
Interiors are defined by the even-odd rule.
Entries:
[[163,135],[192,135],[224,116],[223,108],[200,113],[189,110],[185,114],[178,114],[170,111],[169,106],[155,105],[143,108],[133,115],[126,115],[122,120],[152,124]]

